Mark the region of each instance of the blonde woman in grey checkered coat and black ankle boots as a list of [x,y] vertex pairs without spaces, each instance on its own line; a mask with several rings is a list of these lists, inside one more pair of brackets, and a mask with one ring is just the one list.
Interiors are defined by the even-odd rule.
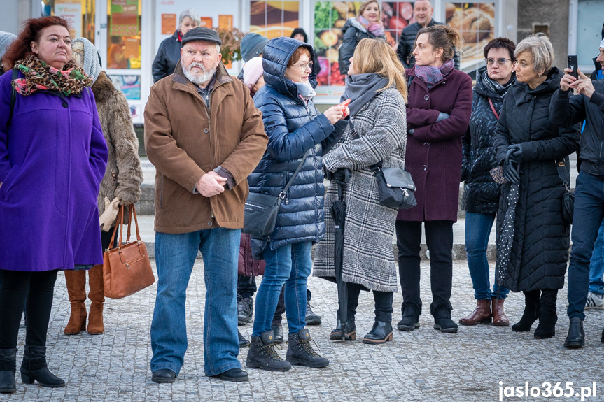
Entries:
[[[342,278],[348,283],[348,322],[332,331],[332,340],[356,338],[354,316],[361,290],[372,290],[375,323],[364,343],[392,339],[392,301],[397,290],[397,271],[392,247],[397,210],[381,206],[377,181],[370,166],[383,161],[387,168],[405,167],[407,85],[402,64],[390,45],[379,39],[359,42],[346,78],[342,100],[350,98],[350,122],[341,141],[323,157],[325,170],[336,177],[347,168],[350,181],[344,187],[346,225]],[[334,223],[330,208],[337,199],[332,181],[325,196],[325,238],[316,247],[314,275],[332,279],[334,271]]]

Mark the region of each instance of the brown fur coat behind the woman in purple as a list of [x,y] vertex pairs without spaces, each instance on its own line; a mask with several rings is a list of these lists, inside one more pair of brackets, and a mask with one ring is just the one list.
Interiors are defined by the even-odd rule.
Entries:
[[[139,159],[139,140],[134,134],[126,96],[115,89],[113,82],[102,71],[92,85],[92,93],[109,150],[107,168],[98,197],[101,215],[105,210],[105,197],[109,201],[118,197],[120,204],[125,205],[139,202],[143,170]],[[126,220],[127,217],[124,222]]]

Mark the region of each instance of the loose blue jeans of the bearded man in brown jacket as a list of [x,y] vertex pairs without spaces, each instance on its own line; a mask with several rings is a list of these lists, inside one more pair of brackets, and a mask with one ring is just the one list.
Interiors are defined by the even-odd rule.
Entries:
[[187,350],[186,292],[197,250],[204,258],[204,372],[241,368],[237,336],[237,259],[240,229],[155,234],[157,298],[151,323],[151,371],[178,375]]

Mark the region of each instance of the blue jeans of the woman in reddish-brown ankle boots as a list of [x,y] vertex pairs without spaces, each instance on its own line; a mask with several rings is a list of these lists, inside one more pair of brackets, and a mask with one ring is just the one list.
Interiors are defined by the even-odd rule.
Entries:
[[493,292],[489,282],[489,261],[486,259],[486,247],[489,245],[494,213],[465,213],[465,252],[468,254],[468,268],[474,287],[474,298],[491,300],[492,297],[505,299],[510,289],[499,287],[493,280]]

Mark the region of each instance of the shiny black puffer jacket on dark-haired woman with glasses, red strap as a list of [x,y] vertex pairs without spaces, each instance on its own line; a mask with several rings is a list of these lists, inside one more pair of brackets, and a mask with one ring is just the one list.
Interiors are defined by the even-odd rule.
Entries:
[[[478,71],[472,95],[470,127],[463,135],[461,181],[465,181],[465,185],[461,208],[470,213],[496,213],[499,208],[500,185],[493,181],[489,173],[497,166],[493,137],[498,119],[491,109],[489,98],[497,114],[501,115],[503,96],[510,86],[496,92],[484,83],[484,71],[486,66]],[[515,80],[512,75],[512,84]]]

